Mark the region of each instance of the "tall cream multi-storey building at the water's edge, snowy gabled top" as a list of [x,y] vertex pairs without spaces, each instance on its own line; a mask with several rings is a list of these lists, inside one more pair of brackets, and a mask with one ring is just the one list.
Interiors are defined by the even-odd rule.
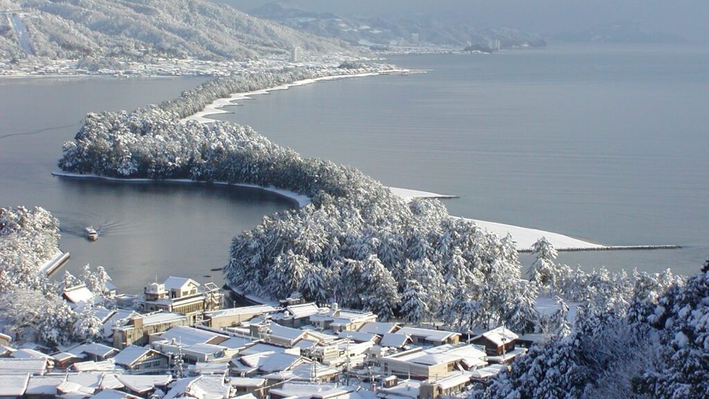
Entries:
[[201,285],[191,278],[170,276],[164,283],[150,283],[144,289],[145,310],[182,313],[188,324],[201,321],[203,312],[218,310],[223,294],[214,283]]

